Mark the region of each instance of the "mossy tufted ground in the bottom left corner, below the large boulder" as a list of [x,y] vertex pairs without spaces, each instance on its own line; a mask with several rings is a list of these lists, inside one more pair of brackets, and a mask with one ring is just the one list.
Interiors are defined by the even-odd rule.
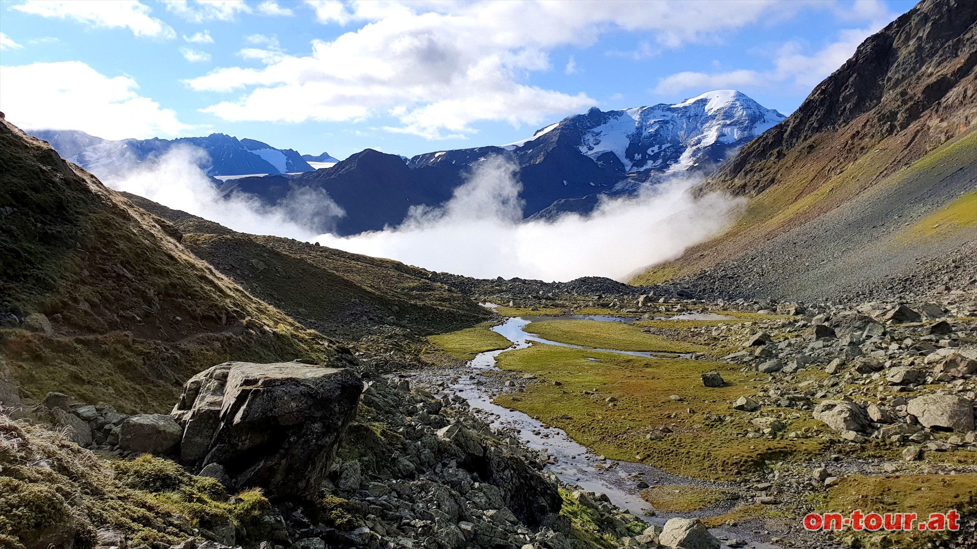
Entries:
[[[107,462],[59,433],[0,415],[0,546],[35,546],[60,529],[95,546],[95,528],[133,545],[173,544],[192,528],[234,525],[254,540],[270,509],[260,491],[229,497],[214,479],[149,455]],[[246,539],[239,539],[246,542]]]

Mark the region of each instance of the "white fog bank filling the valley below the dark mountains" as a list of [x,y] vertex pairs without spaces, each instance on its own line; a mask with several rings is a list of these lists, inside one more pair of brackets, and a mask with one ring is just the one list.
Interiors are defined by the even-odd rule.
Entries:
[[318,241],[482,278],[625,279],[719,232],[743,203],[717,194],[694,198],[689,189],[698,181],[677,176],[636,195],[605,197],[590,215],[525,222],[516,167],[495,158],[481,162],[445,204],[414,207],[399,227],[336,236],[319,233],[345,215],[325,190],[296,188],[275,206],[250,194],[226,195],[200,169],[201,154],[198,148],[173,148],[136,169],[100,173],[112,189],[234,231]]

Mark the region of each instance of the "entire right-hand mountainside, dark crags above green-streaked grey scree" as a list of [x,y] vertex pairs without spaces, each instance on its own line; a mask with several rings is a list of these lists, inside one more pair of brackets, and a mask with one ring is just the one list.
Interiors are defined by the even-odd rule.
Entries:
[[[975,21],[971,2],[925,1],[869,37],[701,186],[748,196],[737,222],[632,282],[854,298],[918,278],[923,262],[973,265],[960,246],[977,235]],[[957,269],[932,283],[973,276]]]

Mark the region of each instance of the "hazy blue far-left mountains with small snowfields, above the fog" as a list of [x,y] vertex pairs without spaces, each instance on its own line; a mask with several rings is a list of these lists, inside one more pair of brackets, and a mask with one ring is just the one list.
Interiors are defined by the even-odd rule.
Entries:
[[50,143],[69,162],[99,177],[124,173],[141,162],[179,147],[203,150],[206,158],[200,168],[210,176],[286,174],[315,169],[290,148],[274,148],[253,139],[238,140],[224,134],[175,140],[120,141],[105,140],[77,130],[35,130],[31,134]]

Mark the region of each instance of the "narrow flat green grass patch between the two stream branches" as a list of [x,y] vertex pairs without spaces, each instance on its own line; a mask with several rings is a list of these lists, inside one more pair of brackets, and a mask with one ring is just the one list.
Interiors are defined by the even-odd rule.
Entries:
[[524,329],[550,341],[598,349],[658,351],[663,353],[701,353],[708,351],[707,347],[665,339],[621,322],[542,320],[531,322]]

